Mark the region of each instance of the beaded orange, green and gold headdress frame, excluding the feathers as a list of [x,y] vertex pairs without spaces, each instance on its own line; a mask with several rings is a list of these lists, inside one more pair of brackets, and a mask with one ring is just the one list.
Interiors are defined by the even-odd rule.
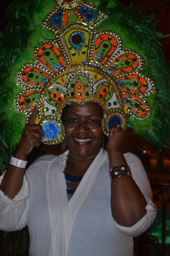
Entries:
[[34,61],[18,70],[16,81],[22,91],[16,95],[15,110],[25,113],[27,122],[38,103],[36,123],[42,125],[47,144],[60,143],[65,137],[60,117],[66,104],[99,103],[107,136],[113,125],[125,129],[128,116],[148,118],[151,108],[146,97],[155,85],[142,74],[144,58],[123,48],[114,31],[95,29],[107,15],[99,12],[95,18],[94,4],[56,3],[41,24],[55,39],[36,45]]

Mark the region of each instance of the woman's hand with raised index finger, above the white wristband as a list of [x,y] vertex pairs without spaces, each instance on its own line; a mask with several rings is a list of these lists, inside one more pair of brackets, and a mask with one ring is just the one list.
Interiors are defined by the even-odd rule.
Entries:
[[44,139],[43,129],[39,124],[35,124],[35,118],[38,112],[38,106],[29,119],[29,122],[23,129],[22,136],[15,155],[19,155],[19,159],[26,159],[33,147],[38,147],[41,139]]

